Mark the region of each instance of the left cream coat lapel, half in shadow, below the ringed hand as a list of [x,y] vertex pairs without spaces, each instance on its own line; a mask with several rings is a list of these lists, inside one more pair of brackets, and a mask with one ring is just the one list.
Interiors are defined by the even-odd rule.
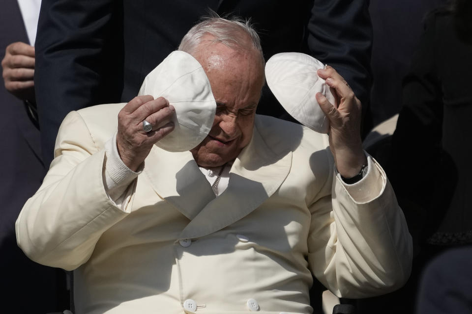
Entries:
[[[149,167],[146,166],[149,165]],[[154,146],[143,173],[154,191],[193,219],[215,194],[190,152],[170,153]]]

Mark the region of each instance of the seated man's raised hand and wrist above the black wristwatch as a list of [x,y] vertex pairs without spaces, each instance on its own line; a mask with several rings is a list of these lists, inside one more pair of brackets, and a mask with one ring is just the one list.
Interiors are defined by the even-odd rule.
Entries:
[[326,80],[336,99],[336,104],[331,104],[323,94],[316,94],[329,119],[329,148],[341,176],[352,178],[367,164],[360,137],[361,104],[348,83],[332,67],[318,70],[318,75]]

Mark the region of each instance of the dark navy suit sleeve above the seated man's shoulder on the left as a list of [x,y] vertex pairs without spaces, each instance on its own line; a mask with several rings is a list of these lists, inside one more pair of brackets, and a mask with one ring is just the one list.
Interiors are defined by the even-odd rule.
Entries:
[[[35,92],[45,164],[72,110],[118,103],[122,73],[120,1],[43,0],[36,37]],[[121,84],[121,85],[120,85]]]

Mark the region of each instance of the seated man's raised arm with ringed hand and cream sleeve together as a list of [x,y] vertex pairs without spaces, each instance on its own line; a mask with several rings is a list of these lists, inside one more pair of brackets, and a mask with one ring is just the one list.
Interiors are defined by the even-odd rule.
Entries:
[[[118,123],[113,118],[117,113]],[[144,118],[139,114],[154,131],[143,130]],[[119,195],[107,184],[111,159],[107,157],[113,150],[109,147],[118,147],[122,167],[136,170],[133,165],[141,165],[152,145],[174,129],[172,123],[156,127],[171,115],[167,100],[152,96],[136,97],[123,108],[101,105],[69,113],[59,129],[51,168],[16,222],[18,245],[25,254],[35,262],[67,270],[87,262],[100,236],[131,211],[136,187],[136,176],[124,180],[124,189],[115,186],[128,194],[120,198],[121,204],[115,202]],[[117,145],[119,138],[124,146]]]

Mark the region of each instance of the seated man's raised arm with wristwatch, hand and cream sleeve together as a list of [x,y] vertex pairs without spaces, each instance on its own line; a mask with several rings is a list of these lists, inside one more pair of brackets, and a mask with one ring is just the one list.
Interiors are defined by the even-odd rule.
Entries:
[[309,261],[315,276],[340,297],[384,294],[408,279],[412,238],[385,172],[362,150],[359,100],[333,68],[318,74],[336,98],[330,104],[316,95],[330,122],[337,173],[332,187],[325,187],[331,194],[312,206]]

